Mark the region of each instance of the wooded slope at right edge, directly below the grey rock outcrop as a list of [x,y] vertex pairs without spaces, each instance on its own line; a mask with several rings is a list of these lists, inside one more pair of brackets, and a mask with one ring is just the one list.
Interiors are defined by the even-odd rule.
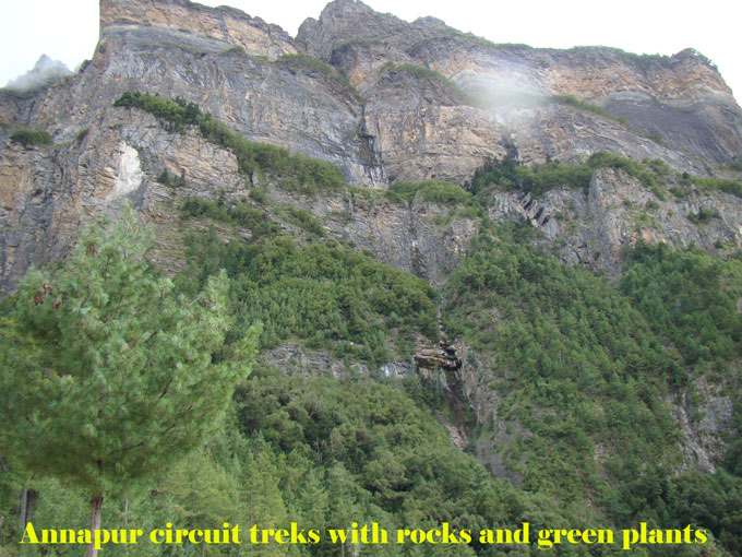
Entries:
[[639,245],[629,253],[620,287],[687,365],[713,362],[723,369],[742,355],[742,262]]

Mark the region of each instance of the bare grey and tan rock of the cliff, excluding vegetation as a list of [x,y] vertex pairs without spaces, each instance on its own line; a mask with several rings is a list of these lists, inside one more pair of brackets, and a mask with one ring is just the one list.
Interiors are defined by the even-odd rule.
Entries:
[[[420,195],[410,203],[379,191],[311,197],[286,192],[270,178],[251,182],[230,151],[195,129],[173,132],[149,114],[115,108],[127,91],[196,103],[244,138],[331,162],[350,185],[369,190],[395,180],[462,185],[488,157],[579,162],[607,151],[721,177],[733,176],[723,165],[742,157],[742,112],[716,69],[691,50],[665,59],[492,45],[439,20],[407,23],[354,0],[330,3],[295,40],[232,9],[101,0],[100,42],[76,75],[35,93],[0,91],[2,292],[31,264],[63,258],[84,222],[124,199],[157,226],[156,258],[170,272],[182,264],[177,208],[183,200],[244,200],[255,187],[276,206],[309,211],[330,237],[434,287],[445,284],[477,234],[475,217]],[[7,141],[21,128],[49,131],[53,146]],[[157,182],[163,170],[183,183]],[[529,221],[543,233],[538,241],[563,261],[609,276],[620,270],[622,248],[639,239],[721,254],[742,247],[738,197],[667,189],[658,197],[626,173],[603,168],[587,191],[565,185],[540,199],[496,192],[486,211],[494,221]],[[714,216],[699,223],[704,211]],[[307,358],[307,366],[343,372],[332,358],[302,355],[294,345],[268,358],[279,365]],[[411,358],[386,367],[387,375],[411,368]],[[480,420],[496,412],[496,390],[484,379],[465,366],[458,380]],[[706,449],[714,445],[707,430],[716,435],[730,422],[730,405],[718,406],[719,419],[699,434],[687,417],[690,403],[678,405],[686,445],[705,451],[707,470],[719,452]],[[495,473],[507,475],[494,453],[479,449]]]

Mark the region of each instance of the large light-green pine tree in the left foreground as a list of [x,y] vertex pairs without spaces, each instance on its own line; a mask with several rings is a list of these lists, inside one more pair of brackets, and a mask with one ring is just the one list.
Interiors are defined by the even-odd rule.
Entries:
[[176,296],[153,238],[124,206],[58,272],[32,270],[0,321],[3,451],[89,494],[91,530],[104,497],[203,443],[255,352],[254,329],[225,347],[225,273]]

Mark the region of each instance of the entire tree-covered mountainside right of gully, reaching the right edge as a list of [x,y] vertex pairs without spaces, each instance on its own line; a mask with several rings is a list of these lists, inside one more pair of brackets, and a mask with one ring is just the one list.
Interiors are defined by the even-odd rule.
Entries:
[[589,494],[618,524],[697,524],[739,554],[742,441],[726,470],[677,475],[679,428],[662,401],[692,388],[689,366],[739,400],[740,262],[639,246],[611,285],[539,253],[527,229],[496,232],[454,273],[444,311],[446,331],[490,363],[482,380],[500,396],[480,439],[529,490]]

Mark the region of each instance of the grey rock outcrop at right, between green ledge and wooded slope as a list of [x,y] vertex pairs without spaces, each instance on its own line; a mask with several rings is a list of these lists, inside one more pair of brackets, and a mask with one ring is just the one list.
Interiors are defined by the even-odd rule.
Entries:
[[[718,191],[690,188],[675,197],[660,188],[663,199],[623,170],[595,173],[587,192],[556,189],[542,199],[523,193],[495,193],[489,204],[493,220],[527,218],[543,233],[540,244],[567,263],[586,263],[617,277],[624,248],[648,244],[695,245],[726,253],[742,247],[742,203]],[[701,211],[709,216],[693,222]]]

